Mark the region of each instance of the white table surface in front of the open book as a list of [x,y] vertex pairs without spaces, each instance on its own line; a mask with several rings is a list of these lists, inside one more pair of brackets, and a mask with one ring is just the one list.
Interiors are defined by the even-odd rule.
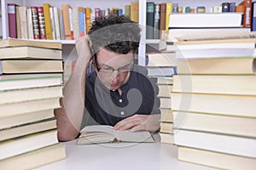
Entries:
[[188,162],[177,161],[177,146],[155,143],[119,143],[76,145],[76,139],[65,142],[67,158],[55,161],[38,170],[86,169],[86,170],[212,170]]

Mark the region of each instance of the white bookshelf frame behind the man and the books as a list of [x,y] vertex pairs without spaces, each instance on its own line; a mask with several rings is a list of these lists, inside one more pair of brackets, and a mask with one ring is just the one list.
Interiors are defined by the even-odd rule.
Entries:
[[[134,2],[136,0],[119,0],[119,1],[113,1],[113,0],[105,0],[105,1],[99,1],[99,0],[76,0],[76,1],[66,1],[66,0],[1,0],[1,14],[0,14],[0,21],[2,22],[2,26],[0,26],[0,36],[3,36],[3,38],[9,37],[9,28],[8,28],[8,18],[7,15],[7,3],[16,3],[20,6],[42,6],[43,3],[49,3],[52,6],[55,6],[57,8],[61,8],[62,3],[68,3],[71,7],[90,7],[90,8],[124,8],[125,4],[130,4],[131,2]],[[139,2],[139,25],[142,26],[142,40],[141,45],[139,48],[139,65],[145,64],[145,54],[146,54],[146,44],[157,44],[160,40],[146,40],[146,4],[149,2],[149,0],[137,0]],[[242,0],[233,0],[232,2],[235,2],[236,4],[241,3]],[[224,0],[153,0],[154,3],[178,3],[179,6],[189,6],[190,8],[196,8],[198,6],[205,6],[206,12],[208,12],[208,9],[212,6],[219,5],[224,2]],[[184,10],[184,8],[183,8]],[[3,20],[1,20],[3,19]],[[51,40],[55,41],[55,40]],[[57,42],[59,42],[57,40]],[[67,41],[67,40],[61,40],[61,43],[64,45],[63,48],[66,46],[70,46],[74,44],[74,41]]]

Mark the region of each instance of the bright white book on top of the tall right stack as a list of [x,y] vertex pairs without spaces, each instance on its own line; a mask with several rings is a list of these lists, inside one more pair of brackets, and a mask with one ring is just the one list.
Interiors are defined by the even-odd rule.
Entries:
[[241,13],[184,13],[169,16],[169,29],[198,27],[241,27]]

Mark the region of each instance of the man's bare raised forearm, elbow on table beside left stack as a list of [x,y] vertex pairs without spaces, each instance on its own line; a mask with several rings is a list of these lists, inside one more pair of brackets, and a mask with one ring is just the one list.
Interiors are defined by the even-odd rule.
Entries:
[[58,138],[62,141],[75,139],[79,134],[84,113],[86,63],[88,61],[77,62],[64,88],[61,108],[55,110]]

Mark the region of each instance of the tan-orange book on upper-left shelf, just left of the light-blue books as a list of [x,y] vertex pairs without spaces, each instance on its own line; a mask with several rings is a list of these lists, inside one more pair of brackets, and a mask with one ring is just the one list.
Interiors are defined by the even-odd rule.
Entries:
[[65,39],[71,40],[71,29],[70,29],[70,18],[69,18],[69,4],[62,4],[62,14],[63,14],[63,25],[64,25],[64,33]]

